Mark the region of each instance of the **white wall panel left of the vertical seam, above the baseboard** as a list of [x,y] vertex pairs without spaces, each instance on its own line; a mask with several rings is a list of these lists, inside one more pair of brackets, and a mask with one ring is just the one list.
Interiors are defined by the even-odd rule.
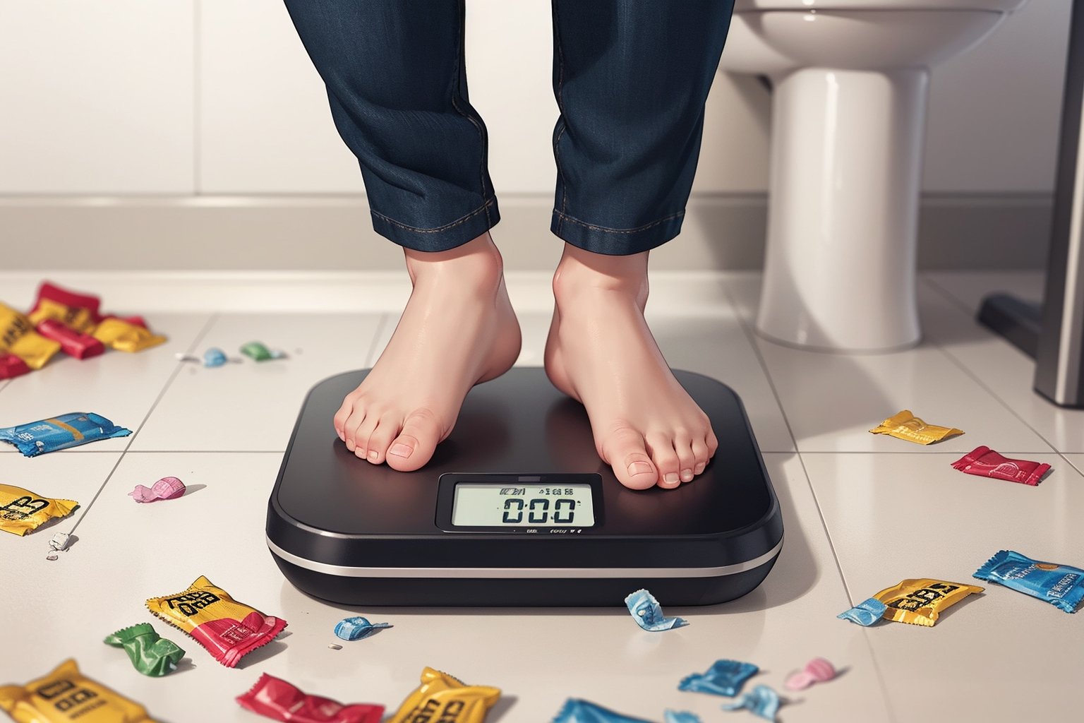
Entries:
[[192,1],[0,0],[0,193],[191,193]]

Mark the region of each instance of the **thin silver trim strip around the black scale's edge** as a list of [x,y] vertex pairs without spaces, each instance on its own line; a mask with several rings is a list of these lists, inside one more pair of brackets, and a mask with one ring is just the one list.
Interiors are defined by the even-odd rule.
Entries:
[[288,553],[267,538],[275,555],[313,572],[347,578],[718,578],[752,570],[775,557],[783,538],[774,547],[753,559],[722,567],[352,567],[317,563]]

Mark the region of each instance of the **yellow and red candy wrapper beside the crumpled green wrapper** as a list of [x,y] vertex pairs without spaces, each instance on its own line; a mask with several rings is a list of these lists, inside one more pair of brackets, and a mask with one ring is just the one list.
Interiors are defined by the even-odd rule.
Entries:
[[195,638],[227,668],[233,668],[243,656],[273,641],[286,627],[282,618],[263,615],[234,601],[203,576],[176,595],[152,597],[146,607]]

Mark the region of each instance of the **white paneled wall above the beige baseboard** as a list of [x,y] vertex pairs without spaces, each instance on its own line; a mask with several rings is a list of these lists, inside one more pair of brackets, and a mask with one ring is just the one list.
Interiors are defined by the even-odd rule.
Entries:
[[[1070,0],[933,73],[925,190],[1049,193]],[[549,0],[467,0],[498,194],[550,194]],[[717,77],[694,193],[766,186],[769,96]],[[276,0],[0,0],[0,194],[362,191]]]

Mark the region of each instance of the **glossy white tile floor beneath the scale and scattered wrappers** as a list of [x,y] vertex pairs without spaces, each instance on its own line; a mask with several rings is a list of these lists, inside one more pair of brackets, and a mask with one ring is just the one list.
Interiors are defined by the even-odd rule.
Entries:
[[[503,688],[490,723],[547,721],[568,696],[651,721],[661,720],[664,708],[692,710],[710,723],[758,719],[722,712],[724,699],[678,692],[685,674],[718,658],[749,660],[765,671],[754,682],[782,690],[790,671],[824,656],[846,674],[791,694],[793,702],[780,710],[784,723],[902,723],[931,712],[967,721],[1076,720],[1073,694],[1084,673],[1080,614],[988,585],[932,629],[881,623],[865,630],[835,618],[903,578],[970,581],[1003,547],[1084,565],[1084,412],[1037,398],[1029,360],[971,321],[982,293],[1035,296],[1036,277],[928,274],[921,280],[925,341],[865,356],[803,352],[754,336],[758,285],[756,275],[726,276],[733,306],[712,300],[684,314],[673,313],[679,297],[664,298],[669,287],[656,285],[653,306],[662,311],[650,313],[673,366],[714,376],[741,395],[783,505],[787,537],[779,561],[745,598],[667,608],[692,624],[653,634],[623,608],[348,612],[301,595],[263,543],[280,455],[304,392],[332,373],[372,363],[395,315],[378,299],[372,313],[184,307],[147,314],[169,335],[167,346],[63,360],[0,382],[0,426],[93,411],[136,432],[31,460],[0,446],[0,481],[82,503],[49,530],[0,537],[0,683],[27,681],[75,657],[92,677],[144,702],[156,720],[255,722],[233,697],[261,672],[393,710],[422,668],[433,666]],[[5,301],[28,306],[25,284],[7,287],[18,291]],[[520,363],[537,365],[547,315],[531,307],[521,321]],[[251,338],[285,349],[291,359],[218,370],[173,360],[175,351],[235,349]],[[866,431],[903,408],[967,434],[924,448]],[[978,444],[1048,462],[1054,472],[1031,488],[949,466]],[[184,479],[189,494],[153,505],[127,496],[134,485],[166,475]],[[49,535],[73,530],[72,550],[47,561]],[[286,633],[228,670],[146,612],[146,597],[181,590],[199,574],[285,617]],[[396,627],[328,649],[334,622],[357,614]],[[121,651],[101,644],[136,622],[154,622],[189,651],[191,664],[146,679]],[[555,637],[570,643],[554,646]]]

